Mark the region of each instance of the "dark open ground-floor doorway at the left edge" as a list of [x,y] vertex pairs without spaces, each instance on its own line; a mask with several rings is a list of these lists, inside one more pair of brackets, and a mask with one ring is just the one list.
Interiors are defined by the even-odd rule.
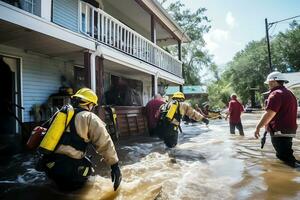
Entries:
[[19,122],[22,122],[20,59],[0,55],[0,91],[0,135],[19,133]]

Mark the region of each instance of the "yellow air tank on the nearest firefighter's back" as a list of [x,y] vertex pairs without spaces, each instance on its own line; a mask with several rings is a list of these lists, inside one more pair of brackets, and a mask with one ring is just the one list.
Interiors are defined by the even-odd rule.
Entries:
[[69,125],[73,115],[74,109],[71,105],[65,105],[61,108],[61,110],[53,119],[45,137],[39,146],[39,149],[43,153],[51,153],[55,150],[56,145],[58,144],[66,127]]

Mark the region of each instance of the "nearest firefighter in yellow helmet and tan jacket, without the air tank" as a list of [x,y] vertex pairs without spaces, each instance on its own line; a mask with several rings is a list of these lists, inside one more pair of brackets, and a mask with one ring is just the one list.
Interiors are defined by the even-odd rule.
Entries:
[[[118,166],[118,156],[104,122],[92,113],[97,106],[97,95],[88,88],[82,88],[72,96],[74,115],[64,129],[60,140],[52,152],[44,152],[38,168],[45,171],[60,189],[74,190],[81,188],[92,172],[89,159],[85,157],[87,145],[91,143],[111,166],[111,178],[114,190],[120,185],[122,175]],[[51,126],[54,126],[55,119]],[[45,140],[44,137],[43,140]],[[43,142],[40,150],[43,149]]]

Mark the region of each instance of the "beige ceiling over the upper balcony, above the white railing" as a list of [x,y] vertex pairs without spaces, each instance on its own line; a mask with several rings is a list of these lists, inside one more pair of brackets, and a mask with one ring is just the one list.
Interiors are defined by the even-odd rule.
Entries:
[[[139,27],[142,27],[142,29],[145,30],[147,33],[149,34],[151,33],[151,16],[136,1],[105,0],[105,3],[111,4],[113,7],[118,9],[120,13],[123,13],[124,16],[127,16]],[[104,5],[104,11],[105,11],[105,5]],[[122,19],[119,20],[124,22],[124,20]],[[165,28],[163,28],[161,24],[156,22],[155,26],[156,26],[156,39],[157,39],[157,44],[159,46],[177,44],[177,40],[175,40],[174,37]]]

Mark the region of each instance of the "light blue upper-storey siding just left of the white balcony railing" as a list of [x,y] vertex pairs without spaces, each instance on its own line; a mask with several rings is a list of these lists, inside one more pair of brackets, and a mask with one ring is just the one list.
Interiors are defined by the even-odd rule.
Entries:
[[78,32],[78,1],[53,0],[52,22]]

